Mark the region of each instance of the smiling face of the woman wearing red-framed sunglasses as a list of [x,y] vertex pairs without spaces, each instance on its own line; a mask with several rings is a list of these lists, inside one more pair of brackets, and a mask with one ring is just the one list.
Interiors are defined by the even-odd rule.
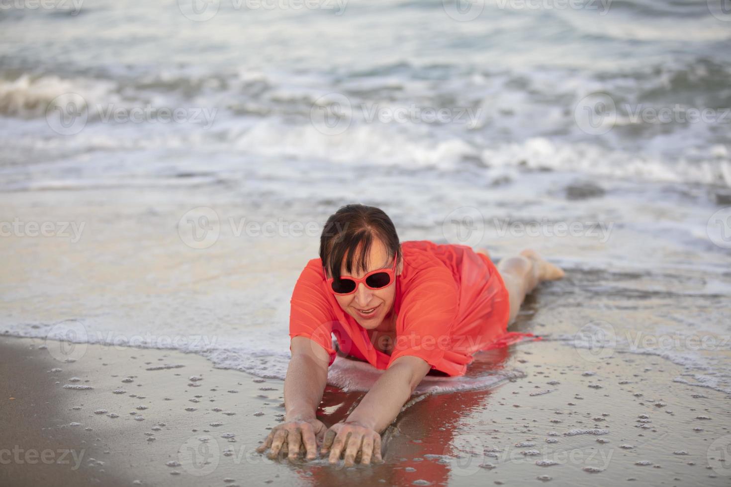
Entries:
[[[351,274],[351,277],[363,277],[368,272],[377,269],[391,269],[393,268],[393,258],[388,257],[385,245],[381,242],[376,241],[371,245],[371,250],[368,253],[368,270],[366,272],[358,272],[357,274]],[[355,271],[354,269],[354,272]],[[341,265],[341,275],[348,275],[345,270],[345,264]],[[396,275],[401,274],[401,265],[396,268]],[[343,310],[355,318],[355,321],[360,326],[367,330],[376,329],[386,318],[390,315],[393,309],[393,302],[396,295],[395,279],[385,288],[380,289],[369,289],[365,283],[358,283],[358,287],[355,293],[348,294],[347,296],[335,295],[335,299],[340,304]],[[375,308],[375,309],[374,309]],[[361,311],[372,310],[370,314],[363,315]]]

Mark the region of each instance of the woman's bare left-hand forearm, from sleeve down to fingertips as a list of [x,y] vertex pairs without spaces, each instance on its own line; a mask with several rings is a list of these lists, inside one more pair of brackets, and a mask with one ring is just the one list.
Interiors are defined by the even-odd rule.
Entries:
[[330,355],[321,345],[307,337],[293,337],[292,359],[284,377],[284,423],[275,426],[264,444],[257,448],[260,453],[271,448],[270,457],[277,456],[287,445],[288,457],[294,460],[300,448],[306,459],[317,458],[317,444],[327,427],[315,416],[327,385],[327,365]]

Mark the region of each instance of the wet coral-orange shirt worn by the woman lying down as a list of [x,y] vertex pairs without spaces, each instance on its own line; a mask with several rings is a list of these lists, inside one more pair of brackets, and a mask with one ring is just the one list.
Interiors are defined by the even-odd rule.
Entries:
[[[432,369],[463,375],[477,350],[532,337],[508,333],[507,289],[495,265],[466,245],[428,240],[401,243],[404,268],[396,277],[395,342],[389,356],[377,350],[355,318],[327,289],[320,258],[313,258],[292,292],[289,337],[308,337],[335,360],[331,335],[346,355],[387,369],[396,358],[423,358]],[[330,365],[329,364],[329,365]]]

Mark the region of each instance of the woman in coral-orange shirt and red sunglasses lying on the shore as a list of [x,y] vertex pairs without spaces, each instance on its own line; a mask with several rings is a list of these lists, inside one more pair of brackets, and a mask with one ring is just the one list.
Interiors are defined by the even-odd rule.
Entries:
[[[381,437],[423,377],[463,375],[472,353],[530,334],[508,333],[520,304],[542,280],[564,271],[534,250],[502,259],[487,251],[427,240],[400,243],[376,207],[349,204],[330,216],[319,258],[292,292],[290,350],[284,380],[285,421],[257,448],[290,460],[330,453],[352,465],[381,459]],[[315,412],[333,363],[331,334],[346,355],[385,372],[341,423],[327,429]],[[434,373],[433,372],[433,373]]]

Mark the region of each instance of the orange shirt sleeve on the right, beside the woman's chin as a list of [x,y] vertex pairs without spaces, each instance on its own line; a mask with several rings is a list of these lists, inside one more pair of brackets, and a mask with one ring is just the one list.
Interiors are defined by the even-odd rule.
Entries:
[[435,368],[450,350],[452,325],[458,316],[459,290],[449,269],[422,269],[404,293],[398,320],[397,337],[388,364],[411,355],[423,358]]

